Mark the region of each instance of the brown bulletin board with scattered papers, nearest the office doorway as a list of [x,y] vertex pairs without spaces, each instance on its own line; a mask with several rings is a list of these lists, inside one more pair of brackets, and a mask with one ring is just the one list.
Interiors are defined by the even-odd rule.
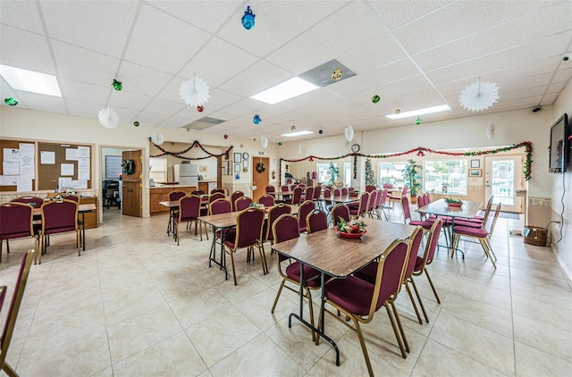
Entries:
[[91,147],[38,142],[38,189],[91,189]]

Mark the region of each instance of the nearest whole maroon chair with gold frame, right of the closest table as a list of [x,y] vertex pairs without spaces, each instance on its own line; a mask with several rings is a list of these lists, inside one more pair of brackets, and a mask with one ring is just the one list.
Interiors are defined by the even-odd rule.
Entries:
[[[349,276],[346,279],[332,279],[324,284],[325,299],[320,314],[322,315],[322,313],[326,312],[332,314],[334,318],[344,324],[347,324],[346,318],[349,318],[355,324],[355,327],[351,327],[351,329],[357,332],[357,337],[359,338],[359,343],[361,344],[361,349],[366,359],[367,371],[370,376],[373,376],[374,372],[369,361],[369,355],[367,354],[366,340],[364,339],[364,334],[361,331],[359,323],[372,322],[375,312],[382,306],[385,306],[387,314],[390,317],[395,338],[400,346],[401,356],[403,356],[403,358],[407,357],[406,348],[404,348],[403,344],[403,342],[406,341],[405,332],[403,332],[403,328],[401,327],[400,316],[395,306],[395,299],[400,292],[403,274],[407,266],[409,250],[410,241],[393,241],[391,246],[385,249],[379,258],[374,284],[359,279],[356,276]],[[343,315],[338,316],[337,313],[331,312],[324,307],[324,304],[333,306]],[[322,323],[322,317],[320,317],[318,323]],[[319,342],[319,340],[318,337],[316,342]]]

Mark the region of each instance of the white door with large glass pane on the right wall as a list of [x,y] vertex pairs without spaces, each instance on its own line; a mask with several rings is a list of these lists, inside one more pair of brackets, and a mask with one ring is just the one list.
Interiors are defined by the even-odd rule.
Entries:
[[521,214],[522,198],[515,189],[524,189],[522,155],[485,156],[485,202],[494,195],[494,204],[501,202],[501,211]]

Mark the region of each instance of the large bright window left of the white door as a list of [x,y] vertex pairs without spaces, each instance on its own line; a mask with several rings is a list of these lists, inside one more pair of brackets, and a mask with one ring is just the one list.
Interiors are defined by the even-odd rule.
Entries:
[[467,160],[425,161],[425,192],[467,195]]

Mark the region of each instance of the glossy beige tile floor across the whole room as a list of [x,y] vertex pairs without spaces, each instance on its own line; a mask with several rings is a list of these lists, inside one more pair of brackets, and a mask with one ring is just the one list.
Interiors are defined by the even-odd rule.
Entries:
[[[400,211],[390,211],[399,221]],[[73,237],[52,237],[33,265],[7,360],[21,376],[361,376],[366,364],[357,335],[328,317],[327,342],[315,346],[305,327],[288,327],[298,297],[284,291],[275,256],[270,273],[257,257],[237,257],[239,285],[208,268],[210,240],[185,233],[181,246],[165,234],[166,215],[139,219],[105,210],[87,230],[78,257]],[[411,353],[406,359],[386,312],[364,326],[377,375],[562,376],[572,370],[572,289],[547,247],[532,247],[500,219],[494,270],[477,244],[461,243],[465,259],[442,250],[429,267],[442,304],[417,278],[430,323],[419,325],[405,291],[398,299]],[[0,285],[13,287],[31,240],[11,242]],[[8,296],[12,295],[9,290]],[[318,295],[315,294],[315,297]],[[318,300],[315,300],[316,307]],[[2,314],[2,323],[6,314]]]

